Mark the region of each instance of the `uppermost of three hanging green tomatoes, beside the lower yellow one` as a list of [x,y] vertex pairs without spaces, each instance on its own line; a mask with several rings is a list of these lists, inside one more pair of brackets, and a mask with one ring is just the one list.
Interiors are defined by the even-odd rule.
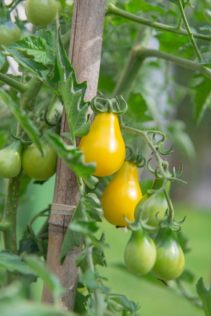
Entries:
[[[159,231],[159,221],[156,219],[156,214],[157,218],[164,220],[169,207],[163,191],[152,197],[154,190],[159,190],[163,186],[163,181],[163,178],[155,179],[149,192],[140,199],[135,208],[135,218],[139,216],[141,220],[145,220],[146,224],[153,229],[153,231],[146,229],[147,232],[156,233]],[[170,195],[170,181],[167,182],[167,193]],[[150,198],[151,200],[149,200]]]

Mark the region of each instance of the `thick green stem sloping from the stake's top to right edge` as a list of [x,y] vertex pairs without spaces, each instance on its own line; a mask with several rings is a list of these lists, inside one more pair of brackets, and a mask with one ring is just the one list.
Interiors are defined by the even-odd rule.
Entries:
[[[117,16],[120,16],[122,18],[140,23],[140,24],[144,24],[150,27],[154,27],[156,29],[160,29],[163,31],[167,31],[167,32],[172,32],[172,33],[177,33],[177,34],[181,34],[181,35],[185,35],[188,36],[188,32],[184,29],[178,29],[175,26],[170,26],[170,25],[166,25],[163,23],[159,23],[159,22],[154,22],[148,19],[144,19],[141,18],[135,14],[129,13],[127,11],[124,11],[122,9],[117,8],[115,5],[110,4],[107,8],[107,14],[114,14]],[[192,35],[194,36],[194,38],[199,38],[199,39],[203,39],[203,40],[207,40],[207,41],[211,41],[211,36],[208,35],[204,35],[204,34],[198,34],[198,33],[192,33]]]

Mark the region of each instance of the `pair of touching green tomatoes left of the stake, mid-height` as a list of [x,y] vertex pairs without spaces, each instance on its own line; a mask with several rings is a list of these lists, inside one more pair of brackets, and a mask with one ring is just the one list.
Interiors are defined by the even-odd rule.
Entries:
[[21,140],[14,140],[0,150],[0,177],[14,178],[21,168],[31,178],[44,181],[56,172],[57,154],[45,141],[41,140],[43,154],[34,143],[25,146]]

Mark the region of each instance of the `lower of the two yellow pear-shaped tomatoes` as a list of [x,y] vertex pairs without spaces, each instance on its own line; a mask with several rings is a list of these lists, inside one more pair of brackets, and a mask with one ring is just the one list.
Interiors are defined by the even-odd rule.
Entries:
[[115,226],[127,226],[124,215],[129,221],[134,221],[134,209],[141,197],[138,168],[125,161],[102,193],[104,218]]

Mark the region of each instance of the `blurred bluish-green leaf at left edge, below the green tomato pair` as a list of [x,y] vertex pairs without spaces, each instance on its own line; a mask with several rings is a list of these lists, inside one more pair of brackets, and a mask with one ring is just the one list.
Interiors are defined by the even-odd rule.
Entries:
[[5,268],[10,272],[19,272],[21,274],[32,274],[37,276],[37,274],[22,261],[22,258],[9,252],[8,250],[0,249],[0,267]]

